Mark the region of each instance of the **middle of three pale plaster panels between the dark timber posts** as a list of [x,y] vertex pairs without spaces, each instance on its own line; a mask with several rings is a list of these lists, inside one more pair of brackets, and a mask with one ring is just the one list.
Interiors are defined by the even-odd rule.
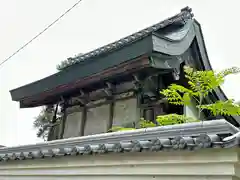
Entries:
[[108,131],[110,105],[101,105],[87,110],[84,135],[100,134]]

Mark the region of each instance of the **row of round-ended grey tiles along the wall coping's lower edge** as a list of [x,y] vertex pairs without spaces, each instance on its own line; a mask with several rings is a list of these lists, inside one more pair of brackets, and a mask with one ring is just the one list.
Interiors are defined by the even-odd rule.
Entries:
[[240,147],[240,134],[223,141],[218,135],[201,134],[198,137],[155,138],[152,140],[122,141],[97,145],[42,149],[33,152],[7,153],[0,156],[1,161],[38,159],[67,155],[87,155],[120,152],[165,151],[165,150],[199,150],[203,148]]

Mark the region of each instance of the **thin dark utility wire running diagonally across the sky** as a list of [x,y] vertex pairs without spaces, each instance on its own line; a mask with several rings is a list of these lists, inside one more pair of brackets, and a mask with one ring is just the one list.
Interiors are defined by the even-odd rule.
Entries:
[[63,16],[65,16],[67,13],[69,13],[74,7],[76,7],[82,0],[78,0],[72,7],[70,7],[67,11],[65,11],[59,18],[57,18],[55,21],[53,21],[51,24],[49,24],[46,28],[44,28],[40,33],[38,33],[36,36],[34,36],[30,41],[28,41],[26,44],[24,44],[22,47],[20,47],[17,51],[15,51],[12,55],[10,55],[8,58],[6,58],[4,61],[0,63],[1,66],[10,60],[13,56],[15,56],[17,53],[19,53],[21,50],[23,50],[27,45],[32,43],[35,39],[37,39],[40,35],[42,35],[45,31],[47,31],[50,27],[52,27],[55,23],[57,23]]

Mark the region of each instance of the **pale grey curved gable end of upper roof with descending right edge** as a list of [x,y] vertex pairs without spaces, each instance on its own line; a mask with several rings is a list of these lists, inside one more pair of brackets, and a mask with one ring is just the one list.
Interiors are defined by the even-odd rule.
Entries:
[[[171,35],[174,34],[175,39]],[[207,54],[207,49],[201,29],[200,23],[196,20],[188,20],[186,25],[179,31],[170,33],[170,36],[166,38],[164,35],[159,35],[158,33],[153,34],[153,50],[157,53],[164,53],[172,56],[182,55],[193,43],[193,40],[197,41],[199,48],[199,55],[201,56],[201,63],[203,70],[212,70],[212,66]],[[171,38],[170,38],[171,37]],[[181,37],[181,38],[179,38]],[[169,43],[171,42],[171,43]],[[214,97],[216,100],[227,100],[227,96],[221,89],[217,88],[214,91]],[[240,117],[239,116],[228,116],[225,117],[231,124],[240,127]]]

